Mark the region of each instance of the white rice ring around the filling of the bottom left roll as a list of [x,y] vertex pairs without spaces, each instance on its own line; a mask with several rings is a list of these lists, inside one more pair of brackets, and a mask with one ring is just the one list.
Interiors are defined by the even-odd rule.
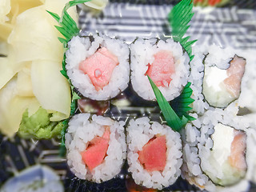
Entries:
[[[114,178],[126,159],[125,122],[115,122],[110,118],[90,114],[76,114],[70,119],[66,137],[66,159],[70,170],[81,179],[93,182],[105,182]],[[102,137],[104,126],[110,126],[110,142],[102,164],[96,166],[92,173],[82,161],[81,152],[86,150],[90,141],[96,136]]]

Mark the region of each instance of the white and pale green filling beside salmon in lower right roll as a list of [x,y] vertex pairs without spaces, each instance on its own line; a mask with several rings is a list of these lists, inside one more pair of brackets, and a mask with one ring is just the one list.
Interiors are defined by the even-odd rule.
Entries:
[[209,156],[206,156],[208,161],[203,164],[203,169],[217,185],[233,185],[246,175],[246,169],[232,166],[229,161],[234,137],[234,128],[222,123],[214,126],[214,134],[211,135],[214,146],[210,150]]

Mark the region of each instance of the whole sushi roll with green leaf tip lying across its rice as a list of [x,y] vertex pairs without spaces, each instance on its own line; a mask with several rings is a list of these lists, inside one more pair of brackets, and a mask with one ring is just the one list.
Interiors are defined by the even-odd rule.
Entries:
[[169,38],[148,40],[138,38],[130,45],[131,84],[146,100],[155,100],[148,75],[167,101],[181,93],[190,74],[190,58],[179,42]]

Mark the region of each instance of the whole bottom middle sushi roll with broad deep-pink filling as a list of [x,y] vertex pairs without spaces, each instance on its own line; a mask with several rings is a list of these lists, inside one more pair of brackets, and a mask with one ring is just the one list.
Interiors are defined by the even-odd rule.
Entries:
[[132,119],[127,127],[128,171],[138,185],[161,190],[181,174],[182,141],[169,126],[149,118]]

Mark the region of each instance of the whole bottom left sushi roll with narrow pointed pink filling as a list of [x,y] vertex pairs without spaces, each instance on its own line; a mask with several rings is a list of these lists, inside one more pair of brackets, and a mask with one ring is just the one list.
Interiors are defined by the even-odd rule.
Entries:
[[65,136],[70,170],[97,183],[114,178],[126,159],[124,125],[95,114],[74,115]]

